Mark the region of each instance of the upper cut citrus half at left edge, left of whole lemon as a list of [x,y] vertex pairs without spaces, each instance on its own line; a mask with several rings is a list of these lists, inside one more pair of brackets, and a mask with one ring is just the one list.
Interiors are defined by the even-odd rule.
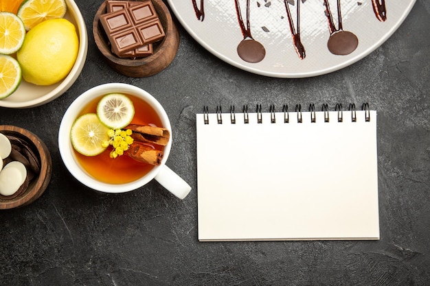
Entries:
[[10,12],[0,12],[0,53],[10,55],[24,43],[23,21]]

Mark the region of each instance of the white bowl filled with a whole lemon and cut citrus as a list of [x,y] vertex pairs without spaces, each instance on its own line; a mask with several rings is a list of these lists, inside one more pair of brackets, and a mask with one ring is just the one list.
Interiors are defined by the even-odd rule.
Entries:
[[0,27],[0,106],[40,106],[65,93],[87,58],[87,28],[76,3],[3,1],[0,21],[6,23]]

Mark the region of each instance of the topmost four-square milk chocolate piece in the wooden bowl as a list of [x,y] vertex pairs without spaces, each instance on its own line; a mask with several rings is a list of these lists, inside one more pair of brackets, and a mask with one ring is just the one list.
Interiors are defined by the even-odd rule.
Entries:
[[151,1],[139,2],[126,9],[102,14],[100,23],[117,56],[161,40],[163,26]]

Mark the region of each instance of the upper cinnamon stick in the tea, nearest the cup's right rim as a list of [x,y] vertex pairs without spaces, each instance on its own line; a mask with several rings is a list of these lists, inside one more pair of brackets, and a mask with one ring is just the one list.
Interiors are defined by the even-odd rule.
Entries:
[[166,146],[169,143],[170,132],[166,128],[131,124],[126,127],[133,131],[131,137],[138,142],[153,143]]

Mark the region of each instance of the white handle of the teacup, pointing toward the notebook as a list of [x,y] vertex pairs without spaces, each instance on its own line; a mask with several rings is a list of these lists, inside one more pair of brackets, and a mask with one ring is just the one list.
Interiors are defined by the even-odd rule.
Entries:
[[161,167],[157,176],[155,176],[155,180],[181,200],[191,191],[190,185],[166,165]]

